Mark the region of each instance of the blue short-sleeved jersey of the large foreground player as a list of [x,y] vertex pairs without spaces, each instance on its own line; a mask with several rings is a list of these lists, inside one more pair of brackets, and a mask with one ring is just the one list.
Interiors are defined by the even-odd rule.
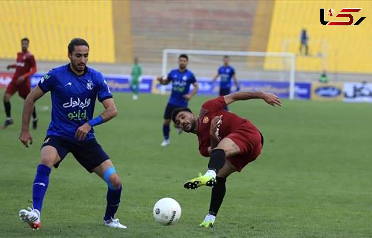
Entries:
[[[70,69],[70,64],[49,71],[41,78],[38,86],[44,93],[51,92],[52,120],[47,136],[55,135],[71,140],[77,140],[77,128],[92,119],[96,97],[100,102],[112,97],[101,73],[86,67],[84,74],[77,76]],[[86,140],[92,138],[93,128]]]

